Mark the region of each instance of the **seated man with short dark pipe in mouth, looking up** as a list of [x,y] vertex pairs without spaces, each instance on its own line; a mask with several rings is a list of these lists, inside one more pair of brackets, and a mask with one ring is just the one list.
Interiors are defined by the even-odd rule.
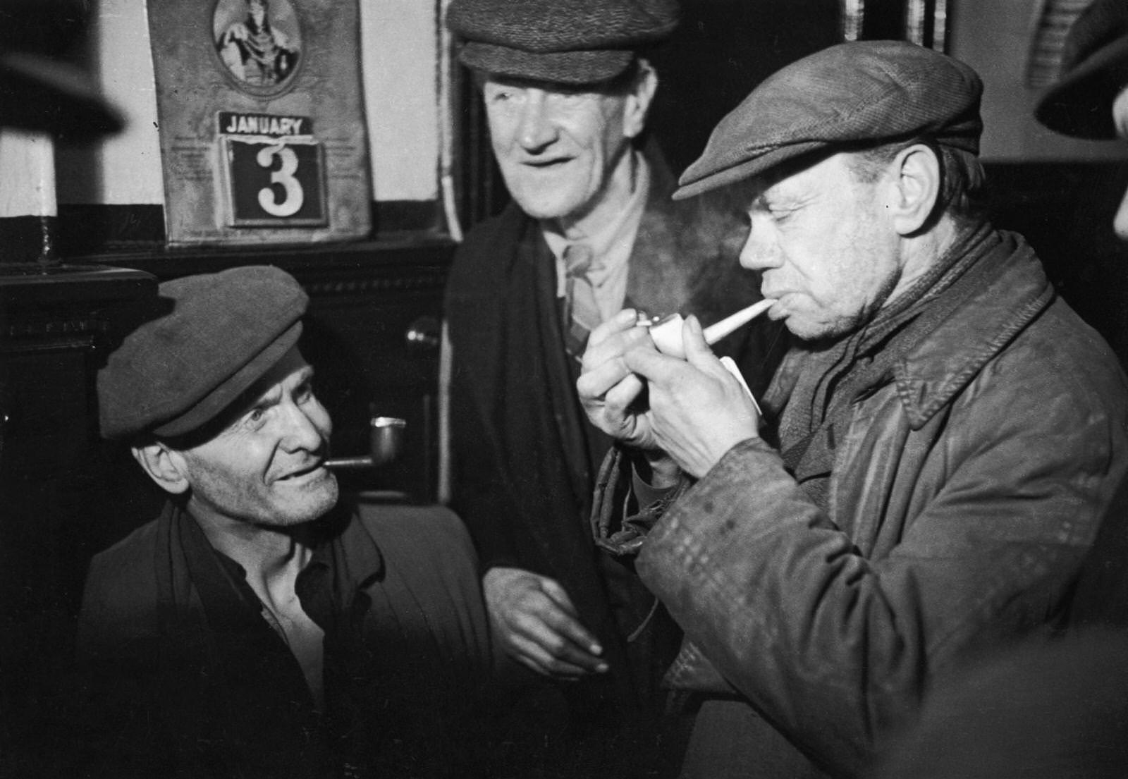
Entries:
[[98,373],[103,435],[168,499],[90,565],[79,655],[111,732],[83,770],[473,776],[490,645],[461,523],[338,503],[289,274],[187,276],[159,303]]

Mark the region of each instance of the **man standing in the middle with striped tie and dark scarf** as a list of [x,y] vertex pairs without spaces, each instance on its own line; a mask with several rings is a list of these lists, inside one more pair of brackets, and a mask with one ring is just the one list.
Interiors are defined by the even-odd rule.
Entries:
[[[575,396],[588,334],[624,306],[711,320],[757,296],[735,263],[739,212],[670,201],[647,140],[646,53],[678,12],[676,0],[455,0],[447,17],[513,198],[470,231],[447,286],[452,505],[502,646],[541,679],[576,682],[561,689],[590,726],[597,709],[658,710],[678,638],[588,526],[611,443]],[[719,345],[756,386],[770,374],[765,333]]]

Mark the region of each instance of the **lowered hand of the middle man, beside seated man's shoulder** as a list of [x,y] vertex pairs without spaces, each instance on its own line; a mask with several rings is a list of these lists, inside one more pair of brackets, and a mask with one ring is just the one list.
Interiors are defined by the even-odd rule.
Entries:
[[486,572],[482,585],[490,623],[510,657],[555,679],[607,671],[602,647],[555,581],[499,567]]

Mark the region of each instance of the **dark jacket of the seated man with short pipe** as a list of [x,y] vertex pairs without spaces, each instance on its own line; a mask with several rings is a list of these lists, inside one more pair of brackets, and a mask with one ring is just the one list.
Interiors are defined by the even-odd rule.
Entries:
[[325,632],[321,710],[243,568],[186,512],[169,503],[95,556],[83,776],[475,776],[492,655],[458,517],[342,505],[318,531],[296,593]]

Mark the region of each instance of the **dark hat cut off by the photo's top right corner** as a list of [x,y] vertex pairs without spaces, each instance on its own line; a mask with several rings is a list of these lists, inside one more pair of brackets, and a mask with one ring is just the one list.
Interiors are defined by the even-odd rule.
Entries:
[[1112,139],[1112,101],[1126,86],[1128,2],[1096,0],[1069,28],[1060,80],[1042,95],[1034,116],[1065,135]]

